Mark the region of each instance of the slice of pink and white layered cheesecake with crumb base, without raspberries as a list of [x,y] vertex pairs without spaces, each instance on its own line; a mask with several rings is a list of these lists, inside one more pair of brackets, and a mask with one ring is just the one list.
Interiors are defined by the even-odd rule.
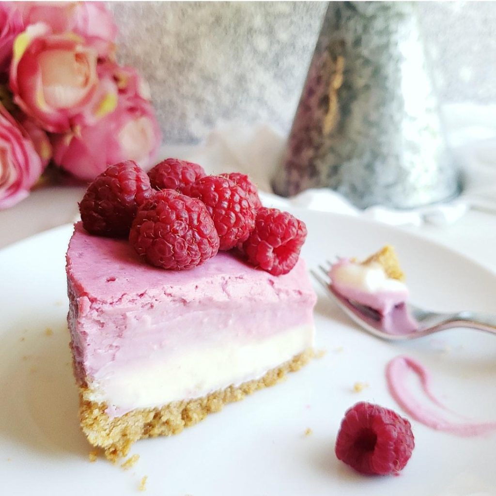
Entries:
[[275,384],[312,355],[316,297],[303,259],[281,276],[225,252],[166,271],[78,223],[66,270],[81,426],[110,459]]

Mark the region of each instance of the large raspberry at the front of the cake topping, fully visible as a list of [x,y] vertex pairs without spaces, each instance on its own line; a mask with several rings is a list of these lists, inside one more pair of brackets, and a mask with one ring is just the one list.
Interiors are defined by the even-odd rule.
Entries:
[[129,243],[152,265],[174,270],[201,265],[219,250],[205,205],[173,189],[157,191],[139,207]]

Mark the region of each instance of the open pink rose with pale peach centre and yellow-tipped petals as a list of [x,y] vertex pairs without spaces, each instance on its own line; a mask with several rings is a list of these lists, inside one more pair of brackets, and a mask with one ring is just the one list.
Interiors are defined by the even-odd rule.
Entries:
[[28,26],[13,46],[14,102],[47,131],[67,131],[96,93],[97,60],[97,50],[78,35]]

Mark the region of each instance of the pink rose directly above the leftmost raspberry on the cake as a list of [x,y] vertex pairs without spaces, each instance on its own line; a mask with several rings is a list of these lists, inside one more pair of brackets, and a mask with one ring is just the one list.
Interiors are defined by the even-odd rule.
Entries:
[[139,96],[121,94],[114,112],[92,125],[54,136],[54,161],[77,178],[91,181],[109,165],[124,160],[150,167],[160,138],[151,104]]

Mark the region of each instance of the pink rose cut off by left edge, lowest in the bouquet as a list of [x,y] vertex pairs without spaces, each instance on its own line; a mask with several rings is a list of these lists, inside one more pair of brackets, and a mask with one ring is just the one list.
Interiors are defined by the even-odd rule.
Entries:
[[32,141],[0,105],[0,209],[25,198],[42,172]]

